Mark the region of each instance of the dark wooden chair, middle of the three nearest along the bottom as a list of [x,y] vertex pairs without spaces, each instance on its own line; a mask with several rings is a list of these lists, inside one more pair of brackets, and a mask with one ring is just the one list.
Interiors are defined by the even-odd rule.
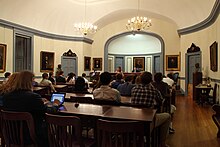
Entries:
[[80,118],[46,114],[49,144],[52,147],[93,146],[93,140],[83,140]]

